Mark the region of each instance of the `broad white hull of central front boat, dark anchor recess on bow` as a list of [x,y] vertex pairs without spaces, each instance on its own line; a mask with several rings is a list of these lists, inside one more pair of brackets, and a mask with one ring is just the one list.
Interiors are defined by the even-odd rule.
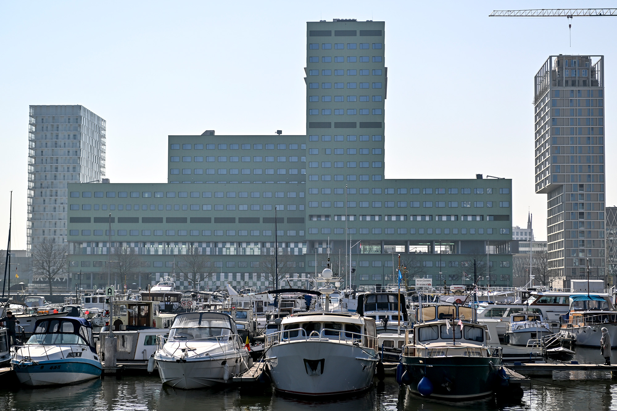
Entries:
[[266,360],[276,389],[309,396],[363,391],[376,365],[373,349],[323,340],[281,342]]

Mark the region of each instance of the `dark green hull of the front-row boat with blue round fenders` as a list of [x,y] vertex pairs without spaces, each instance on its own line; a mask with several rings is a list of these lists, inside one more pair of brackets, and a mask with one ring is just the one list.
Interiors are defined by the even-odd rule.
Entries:
[[[423,363],[420,363],[423,361]],[[499,357],[402,357],[409,389],[415,394],[426,376],[433,384],[429,397],[463,401],[486,397],[499,383]]]

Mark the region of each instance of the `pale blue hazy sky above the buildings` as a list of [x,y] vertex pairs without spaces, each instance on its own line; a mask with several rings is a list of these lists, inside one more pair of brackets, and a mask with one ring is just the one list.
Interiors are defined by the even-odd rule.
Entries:
[[106,177],[167,181],[167,136],[305,133],[308,21],[385,21],[386,178],[511,178],[513,225],[534,215],[534,75],[553,54],[605,56],[607,206],[617,17],[488,17],[581,1],[0,1],[0,247],[25,249],[28,106],[107,120]]

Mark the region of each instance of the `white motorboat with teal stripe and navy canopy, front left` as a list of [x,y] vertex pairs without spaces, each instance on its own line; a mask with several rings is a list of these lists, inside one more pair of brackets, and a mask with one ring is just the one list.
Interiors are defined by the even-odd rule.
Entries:
[[72,384],[98,378],[102,365],[92,327],[84,318],[37,320],[28,341],[11,361],[20,383],[31,386]]

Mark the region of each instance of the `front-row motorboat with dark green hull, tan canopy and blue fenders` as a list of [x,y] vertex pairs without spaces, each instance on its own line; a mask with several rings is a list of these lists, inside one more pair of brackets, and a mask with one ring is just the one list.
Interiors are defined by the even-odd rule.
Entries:
[[415,394],[452,401],[491,395],[500,383],[501,348],[487,344],[487,327],[474,309],[431,305],[420,309],[413,341],[401,355],[400,382]]

